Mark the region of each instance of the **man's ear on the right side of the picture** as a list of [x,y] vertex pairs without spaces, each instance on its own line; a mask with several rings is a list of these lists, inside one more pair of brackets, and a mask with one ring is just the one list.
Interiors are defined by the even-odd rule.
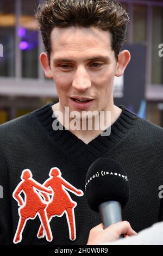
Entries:
[[122,76],[131,59],[130,53],[124,50],[118,54],[115,76]]

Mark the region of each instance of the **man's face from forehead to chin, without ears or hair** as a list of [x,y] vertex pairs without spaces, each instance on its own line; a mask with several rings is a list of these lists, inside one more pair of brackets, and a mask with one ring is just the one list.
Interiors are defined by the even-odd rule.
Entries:
[[110,109],[117,66],[111,35],[93,27],[57,27],[51,44],[50,68],[60,108],[69,107],[70,112]]

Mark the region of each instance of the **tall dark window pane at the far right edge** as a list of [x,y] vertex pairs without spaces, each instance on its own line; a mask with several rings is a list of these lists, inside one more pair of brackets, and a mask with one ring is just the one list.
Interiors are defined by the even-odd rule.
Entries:
[[152,84],[163,84],[163,57],[159,57],[159,45],[163,44],[163,8],[153,7],[152,28]]

